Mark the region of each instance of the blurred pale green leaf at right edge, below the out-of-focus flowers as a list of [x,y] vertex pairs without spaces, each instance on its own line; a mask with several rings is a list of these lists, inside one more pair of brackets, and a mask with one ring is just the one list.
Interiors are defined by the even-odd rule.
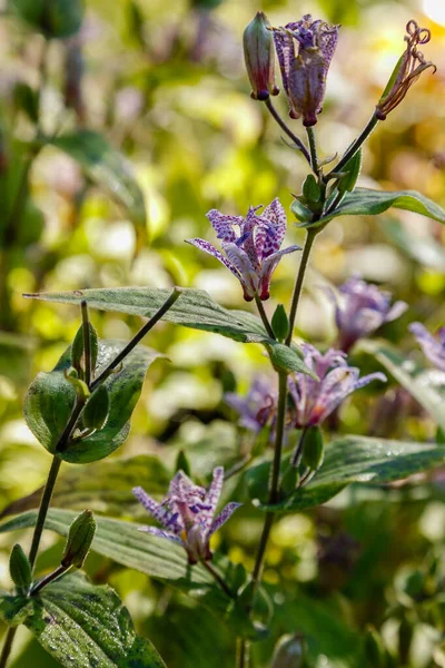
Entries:
[[358,350],[374,355],[445,431],[445,387],[437,384],[434,370],[421,370],[399,351],[378,341],[363,341]]

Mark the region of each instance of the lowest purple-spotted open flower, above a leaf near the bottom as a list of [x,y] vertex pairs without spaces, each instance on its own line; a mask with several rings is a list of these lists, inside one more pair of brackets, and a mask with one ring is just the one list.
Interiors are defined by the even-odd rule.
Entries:
[[197,563],[200,559],[208,561],[212,557],[209,548],[210,537],[241,505],[228,503],[214,518],[222,482],[222,466],[214,470],[214,479],[207,490],[194,484],[188,475],[178,471],[170,482],[168,494],[160,503],[142,488],[134,488],[132,493],[138,501],[165,528],[142,527],[140,531],[179,543],[187,551],[189,563]]

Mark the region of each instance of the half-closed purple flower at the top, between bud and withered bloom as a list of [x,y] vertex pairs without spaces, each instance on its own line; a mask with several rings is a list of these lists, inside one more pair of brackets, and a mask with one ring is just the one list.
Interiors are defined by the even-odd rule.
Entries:
[[313,21],[310,14],[300,21],[274,28],[275,47],[283,86],[291,118],[303,116],[303,125],[317,122],[326,90],[326,77],[338,41],[339,26]]

